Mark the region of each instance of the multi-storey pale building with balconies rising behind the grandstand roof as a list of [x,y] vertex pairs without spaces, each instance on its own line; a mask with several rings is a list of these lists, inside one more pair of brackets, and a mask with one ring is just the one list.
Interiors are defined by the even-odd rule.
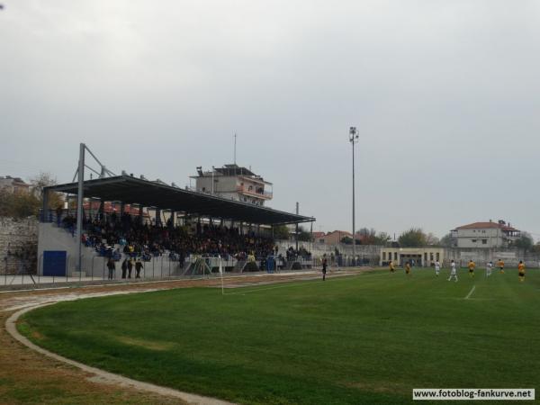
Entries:
[[202,171],[202,167],[197,167],[197,172],[198,175],[191,178],[195,179],[195,189],[199,193],[256,205],[264,205],[265,201],[272,199],[272,183],[246,167],[225,165],[212,167],[211,171]]

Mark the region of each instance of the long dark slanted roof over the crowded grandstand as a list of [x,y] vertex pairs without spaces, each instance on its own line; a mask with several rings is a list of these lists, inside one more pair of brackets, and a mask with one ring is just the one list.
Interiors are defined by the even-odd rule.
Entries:
[[[248,202],[238,202],[205,193],[173,187],[172,185],[142,180],[130,175],[117,175],[85,181],[85,197],[103,201],[119,201],[156,207],[162,210],[186,212],[188,214],[241,220],[248,223],[280,225],[310,222],[313,217],[305,217],[285,211],[261,207]],[[45,188],[46,191],[77,193],[77,183],[57,184]]]

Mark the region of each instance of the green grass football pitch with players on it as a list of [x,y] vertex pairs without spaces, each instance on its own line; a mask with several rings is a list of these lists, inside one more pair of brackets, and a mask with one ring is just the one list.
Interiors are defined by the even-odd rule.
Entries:
[[[20,330],[113,373],[239,403],[410,403],[412,388],[540,388],[540,272],[386,270],[58,303]],[[471,293],[474,286],[473,293]],[[468,297],[465,299],[465,297]],[[438,402],[441,403],[441,402]]]

